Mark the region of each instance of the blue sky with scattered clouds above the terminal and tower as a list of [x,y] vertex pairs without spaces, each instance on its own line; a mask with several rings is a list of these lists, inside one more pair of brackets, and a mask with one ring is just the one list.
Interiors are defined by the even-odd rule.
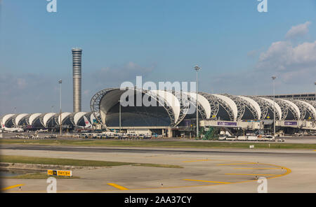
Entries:
[[195,81],[231,94],[314,92],[316,1],[2,0],[0,114],[72,111],[73,47],[83,49],[82,110],[125,80]]

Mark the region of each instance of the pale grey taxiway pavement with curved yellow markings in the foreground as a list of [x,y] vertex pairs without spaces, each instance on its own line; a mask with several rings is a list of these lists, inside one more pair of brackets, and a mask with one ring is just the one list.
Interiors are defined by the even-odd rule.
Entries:
[[[1,145],[1,155],[183,166],[74,170],[80,178],[58,179],[57,192],[258,192],[260,177],[268,178],[268,192],[316,192],[314,150]],[[6,192],[46,192],[48,185],[43,179],[1,182],[12,187]]]

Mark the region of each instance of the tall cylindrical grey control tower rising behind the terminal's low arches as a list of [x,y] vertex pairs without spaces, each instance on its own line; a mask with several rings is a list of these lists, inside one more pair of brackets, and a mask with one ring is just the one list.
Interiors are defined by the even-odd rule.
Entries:
[[81,55],[80,48],[72,48],[72,79],[74,112],[81,111]]

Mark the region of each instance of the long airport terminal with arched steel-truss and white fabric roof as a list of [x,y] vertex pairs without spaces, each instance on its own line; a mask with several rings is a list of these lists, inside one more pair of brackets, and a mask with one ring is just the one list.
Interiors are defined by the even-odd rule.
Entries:
[[60,113],[21,113],[3,115],[0,121],[5,127],[57,131],[60,124],[69,130],[84,126],[86,117],[98,129],[194,136],[198,112],[201,130],[223,127],[271,131],[274,114],[277,129],[289,133],[316,129],[316,101],[310,97],[282,97],[273,101],[273,97],[106,88],[92,97],[90,106],[91,112],[64,112],[61,120]]

